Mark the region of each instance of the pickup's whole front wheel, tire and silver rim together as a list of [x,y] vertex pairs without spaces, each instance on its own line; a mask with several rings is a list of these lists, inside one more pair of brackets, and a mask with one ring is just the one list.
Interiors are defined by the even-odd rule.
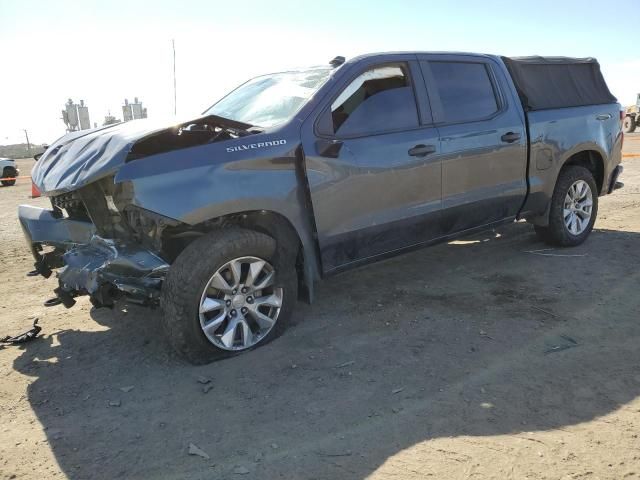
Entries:
[[208,363],[280,335],[296,299],[295,256],[279,258],[276,241],[228,228],[190,244],[173,263],[160,299],[176,351]]

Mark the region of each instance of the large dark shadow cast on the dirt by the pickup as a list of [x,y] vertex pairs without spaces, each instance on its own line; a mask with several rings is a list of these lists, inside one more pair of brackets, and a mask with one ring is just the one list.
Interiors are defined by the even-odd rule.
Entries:
[[69,478],[403,477],[394,456],[425,442],[572,426],[638,396],[639,240],[537,252],[514,224],[333,277],[250,354],[187,365],[159,312],[121,306],[14,367]]

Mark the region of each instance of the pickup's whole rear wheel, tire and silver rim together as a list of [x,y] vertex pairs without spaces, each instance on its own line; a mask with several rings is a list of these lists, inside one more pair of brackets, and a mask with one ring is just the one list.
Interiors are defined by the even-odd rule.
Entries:
[[551,206],[549,225],[536,225],[544,242],[572,247],[584,242],[598,214],[598,189],[589,170],[577,165],[563,168],[558,176]]

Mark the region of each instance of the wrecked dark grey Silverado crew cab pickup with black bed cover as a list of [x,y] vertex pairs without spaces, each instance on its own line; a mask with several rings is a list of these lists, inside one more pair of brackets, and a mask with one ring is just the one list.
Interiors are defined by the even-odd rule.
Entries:
[[622,186],[621,107],[594,59],[385,53],[265,75],[202,116],[70,133],[20,206],[49,305],[162,309],[195,363],[279,335],[314,282],[526,219],[582,243]]

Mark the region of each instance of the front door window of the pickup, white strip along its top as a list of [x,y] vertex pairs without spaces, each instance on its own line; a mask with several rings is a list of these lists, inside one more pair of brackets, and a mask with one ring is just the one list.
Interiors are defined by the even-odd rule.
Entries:
[[418,127],[418,111],[407,68],[385,65],[353,80],[331,104],[333,132],[363,136]]

